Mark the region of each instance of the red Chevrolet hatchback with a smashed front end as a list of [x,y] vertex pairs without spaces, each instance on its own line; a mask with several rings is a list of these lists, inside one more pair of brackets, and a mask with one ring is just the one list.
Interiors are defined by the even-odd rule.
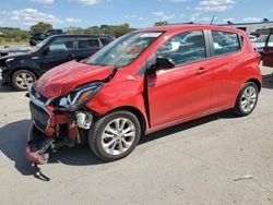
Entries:
[[259,62],[239,29],[185,24],[132,32],[29,87],[26,156],[45,164],[50,150],[88,142],[112,161],[147,133],[226,109],[247,116],[261,91]]

